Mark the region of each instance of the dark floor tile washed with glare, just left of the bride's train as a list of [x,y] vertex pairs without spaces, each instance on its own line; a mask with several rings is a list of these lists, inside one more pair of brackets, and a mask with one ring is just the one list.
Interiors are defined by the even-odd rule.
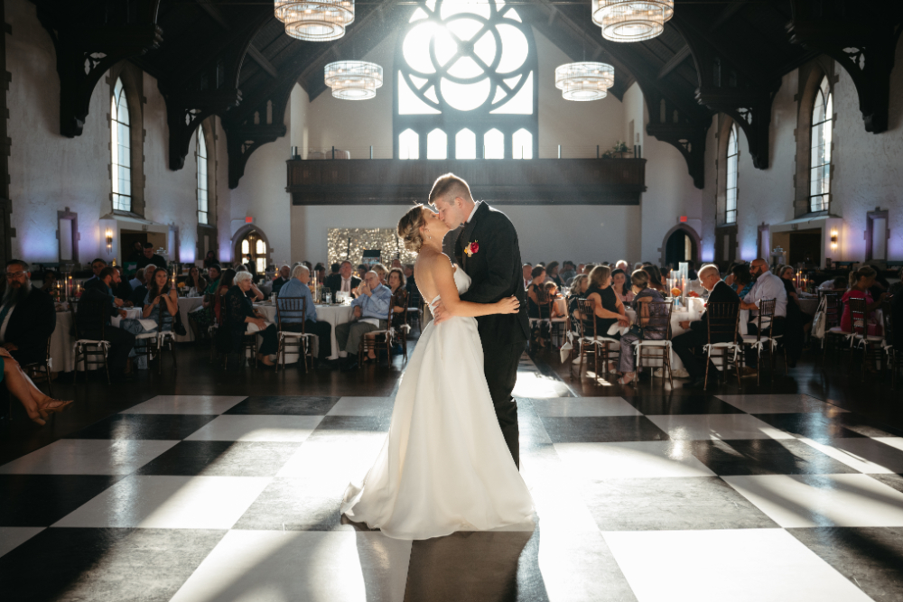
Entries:
[[304,479],[275,478],[232,528],[331,531],[340,525],[341,497],[312,497]]

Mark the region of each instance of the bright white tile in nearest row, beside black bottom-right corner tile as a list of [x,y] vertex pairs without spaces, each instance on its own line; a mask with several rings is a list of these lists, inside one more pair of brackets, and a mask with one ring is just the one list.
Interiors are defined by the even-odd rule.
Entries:
[[783,529],[603,533],[639,602],[868,602]]

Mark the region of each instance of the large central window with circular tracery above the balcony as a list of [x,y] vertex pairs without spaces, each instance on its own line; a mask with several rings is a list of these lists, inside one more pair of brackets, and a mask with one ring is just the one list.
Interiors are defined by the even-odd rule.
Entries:
[[533,30],[513,5],[418,0],[398,40],[397,159],[538,154]]

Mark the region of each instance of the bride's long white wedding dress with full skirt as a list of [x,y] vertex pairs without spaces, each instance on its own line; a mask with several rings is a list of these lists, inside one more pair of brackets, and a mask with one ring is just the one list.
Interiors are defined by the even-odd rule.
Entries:
[[[456,269],[458,292],[470,277]],[[430,310],[439,301],[430,303]],[[341,512],[396,539],[532,523],[533,498],[508,451],[483,375],[477,320],[424,329],[396,395],[392,424]]]

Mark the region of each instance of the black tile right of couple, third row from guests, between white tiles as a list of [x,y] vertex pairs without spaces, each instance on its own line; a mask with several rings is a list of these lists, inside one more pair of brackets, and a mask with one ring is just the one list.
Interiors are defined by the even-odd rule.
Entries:
[[716,475],[839,475],[857,471],[798,440],[691,441]]

